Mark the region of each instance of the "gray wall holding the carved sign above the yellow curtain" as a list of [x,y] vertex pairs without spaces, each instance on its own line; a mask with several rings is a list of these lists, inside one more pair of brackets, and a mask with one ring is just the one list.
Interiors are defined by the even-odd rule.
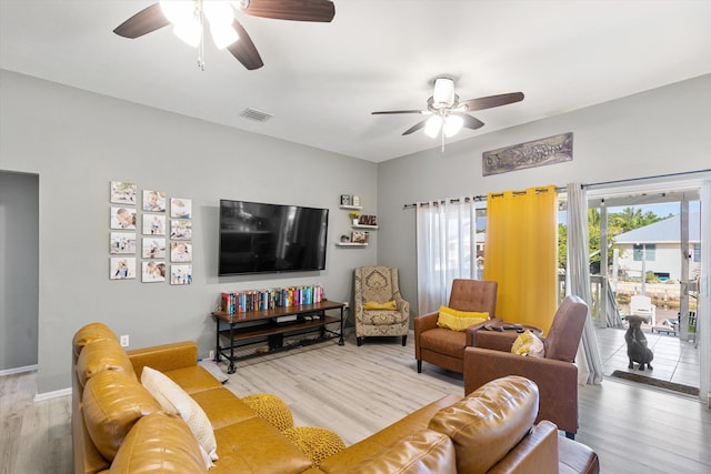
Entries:
[[[703,75],[380,163],[378,262],[398,266],[401,291],[417,295],[415,212],[403,204],[710,169],[710,111],[711,75]],[[564,132],[573,132],[572,161],[482,177],[482,152]],[[417,299],[410,303],[418,314]]]

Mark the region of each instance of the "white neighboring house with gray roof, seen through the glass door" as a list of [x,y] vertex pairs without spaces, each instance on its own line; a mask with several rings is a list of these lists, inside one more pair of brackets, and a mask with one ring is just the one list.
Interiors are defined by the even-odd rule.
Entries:
[[[689,212],[689,279],[701,272],[701,215]],[[681,280],[681,215],[643,228],[624,232],[614,238],[619,249],[618,271],[620,275],[641,278],[642,266],[661,280]]]

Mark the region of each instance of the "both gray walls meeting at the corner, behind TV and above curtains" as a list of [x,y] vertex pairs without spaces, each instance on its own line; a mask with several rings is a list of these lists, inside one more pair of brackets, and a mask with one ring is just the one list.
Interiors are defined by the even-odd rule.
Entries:
[[[132,347],[194,340],[206,355],[214,335],[209,314],[222,291],[318,282],[328,297],[346,301],[354,266],[391,264],[417,314],[414,212],[405,203],[711,162],[711,75],[380,164],[12,72],[0,71],[0,170],[40,177],[39,393],[70,386],[71,335],[91,321],[130,334]],[[481,177],[483,151],[568,131],[572,162]],[[111,180],[192,198],[191,286],[109,281]],[[330,243],[323,272],[216,276],[220,198],[328,206],[336,242],[350,232],[340,194],[360,194],[363,212],[378,214],[367,249]]]

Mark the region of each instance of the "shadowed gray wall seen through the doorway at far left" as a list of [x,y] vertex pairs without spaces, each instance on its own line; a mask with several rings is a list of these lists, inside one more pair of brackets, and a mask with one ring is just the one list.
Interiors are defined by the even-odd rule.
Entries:
[[37,364],[38,182],[0,171],[0,371]]

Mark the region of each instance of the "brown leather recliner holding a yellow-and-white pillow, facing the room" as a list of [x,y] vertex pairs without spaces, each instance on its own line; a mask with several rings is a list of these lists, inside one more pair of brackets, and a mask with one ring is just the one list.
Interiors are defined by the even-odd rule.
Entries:
[[497,282],[483,280],[457,279],[452,282],[449,307],[489,313],[489,321],[471,325],[463,332],[439,327],[439,311],[414,319],[418,372],[422,372],[422,361],[453,372],[464,371],[464,347],[473,344],[477,330],[495,319],[498,288]]

